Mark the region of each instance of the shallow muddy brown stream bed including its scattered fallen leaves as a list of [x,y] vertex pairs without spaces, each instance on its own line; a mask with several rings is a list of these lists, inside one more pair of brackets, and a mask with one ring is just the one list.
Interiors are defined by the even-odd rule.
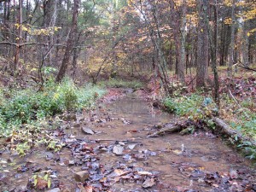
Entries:
[[[58,153],[35,149],[23,158],[7,152],[0,154],[0,191],[38,191],[28,187],[29,178],[49,169],[55,173],[52,191],[256,189],[253,163],[210,132],[147,137],[149,132],[157,131],[154,125],[175,120],[175,116],[151,108],[132,94],[101,104],[93,112],[79,113],[75,120],[61,123],[61,140],[67,145]],[[81,149],[80,145],[86,148]],[[15,166],[6,164],[9,158],[14,159]],[[27,170],[17,172],[20,166]],[[88,167],[90,178],[81,189],[73,174],[89,170]],[[107,180],[108,188],[99,187],[104,182],[108,185]],[[42,191],[46,190],[50,191]]]

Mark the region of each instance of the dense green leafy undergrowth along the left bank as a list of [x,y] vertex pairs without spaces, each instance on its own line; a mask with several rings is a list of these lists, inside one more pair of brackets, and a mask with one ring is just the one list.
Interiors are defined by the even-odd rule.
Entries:
[[0,90],[0,136],[23,124],[33,124],[65,111],[91,108],[105,90],[91,84],[76,86],[70,79],[61,84],[48,81],[44,90]]

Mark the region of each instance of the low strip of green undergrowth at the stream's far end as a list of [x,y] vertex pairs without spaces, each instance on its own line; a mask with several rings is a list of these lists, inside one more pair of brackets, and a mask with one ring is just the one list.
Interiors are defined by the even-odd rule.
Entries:
[[143,83],[138,80],[130,80],[126,81],[123,79],[109,79],[107,81],[99,82],[102,86],[114,87],[114,88],[132,88],[132,89],[140,89],[143,87]]

